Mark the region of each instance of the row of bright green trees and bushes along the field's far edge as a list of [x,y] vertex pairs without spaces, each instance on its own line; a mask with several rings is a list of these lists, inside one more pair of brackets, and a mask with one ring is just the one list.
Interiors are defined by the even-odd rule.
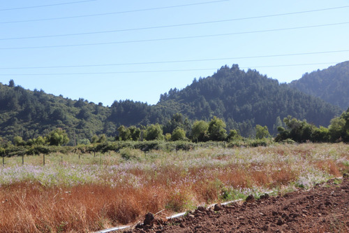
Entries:
[[[0,155],[34,155],[52,152],[68,153],[102,152],[120,150],[121,148],[139,148],[147,150],[188,150],[200,143],[203,146],[213,146],[216,142],[221,146],[267,146],[270,143],[306,143],[306,142],[349,142],[349,108],[338,118],[333,118],[329,127],[316,127],[306,122],[288,116],[278,127],[279,134],[272,138],[267,126],[256,125],[255,136],[245,138],[237,129],[226,130],[226,124],[221,118],[214,116],[209,121],[195,120],[191,125],[180,113],[172,116],[167,124],[149,124],[147,126],[118,127],[118,134],[107,137],[105,134],[94,135],[77,146],[66,146],[69,138],[64,129],[54,129],[45,136],[23,140],[14,136],[13,141],[0,137]],[[274,142],[273,142],[274,141]],[[6,152],[6,153],[5,153]]]

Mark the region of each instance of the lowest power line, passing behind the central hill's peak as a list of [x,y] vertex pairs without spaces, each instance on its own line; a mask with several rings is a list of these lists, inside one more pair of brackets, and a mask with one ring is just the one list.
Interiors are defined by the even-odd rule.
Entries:
[[[241,69],[253,68],[269,68],[269,67],[283,67],[283,66],[309,66],[319,64],[334,64],[339,62],[322,62],[322,63],[307,63],[307,64],[279,64],[270,66],[246,66]],[[83,72],[83,73],[0,73],[0,76],[66,76],[66,75],[101,75],[101,74],[116,74],[116,73],[162,73],[162,72],[177,72],[177,71],[211,71],[217,68],[204,69],[169,69],[169,70],[152,70],[152,71],[111,71],[111,72]]]

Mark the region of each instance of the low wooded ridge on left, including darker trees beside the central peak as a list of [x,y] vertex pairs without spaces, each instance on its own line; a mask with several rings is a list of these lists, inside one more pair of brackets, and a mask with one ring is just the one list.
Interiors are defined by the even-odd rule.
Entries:
[[85,99],[72,100],[0,83],[0,137],[28,140],[45,136],[53,129],[66,130],[69,145],[87,142],[95,134],[114,137],[119,125],[166,122],[172,112],[163,107],[130,100],[114,101],[110,107]]

